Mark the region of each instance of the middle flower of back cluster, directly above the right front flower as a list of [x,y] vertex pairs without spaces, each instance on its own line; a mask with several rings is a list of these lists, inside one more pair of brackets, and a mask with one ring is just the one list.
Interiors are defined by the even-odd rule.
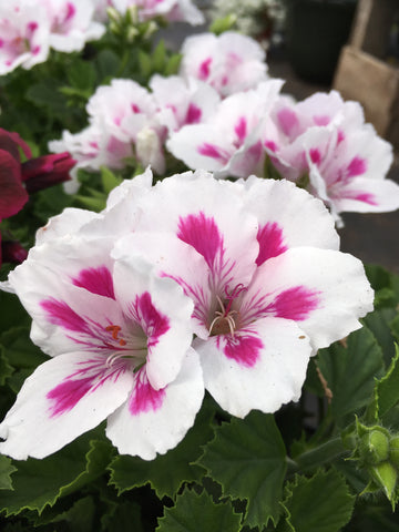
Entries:
[[174,133],[167,149],[188,167],[215,172],[217,177],[263,176],[263,140],[277,134],[269,115],[282,85],[280,80],[269,80],[226,98],[207,122]]

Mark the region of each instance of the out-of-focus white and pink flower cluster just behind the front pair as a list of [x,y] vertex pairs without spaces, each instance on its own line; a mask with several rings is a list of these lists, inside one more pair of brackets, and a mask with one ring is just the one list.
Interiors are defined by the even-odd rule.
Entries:
[[320,198],[338,225],[341,212],[399,207],[399,186],[385,178],[392,147],[359,103],[336,91],[295,102],[280,93],[282,80],[268,79],[263,49],[238,33],[190,37],[182,54],[180,74],[154,75],[150,90],[131,80],[99,88],[90,126],[64,131],[50,150],[91,171],[139,162],[162,174],[166,149],[218,178],[272,173]]

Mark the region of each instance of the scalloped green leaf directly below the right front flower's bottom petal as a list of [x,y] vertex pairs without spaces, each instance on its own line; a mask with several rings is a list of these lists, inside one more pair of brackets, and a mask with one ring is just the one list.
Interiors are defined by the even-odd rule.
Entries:
[[286,472],[286,450],[272,415],[257,411],[244,420],[233,419],[216,436],[197,461],[223,487],[223,494],[246,499],[249,526],[277,521]]

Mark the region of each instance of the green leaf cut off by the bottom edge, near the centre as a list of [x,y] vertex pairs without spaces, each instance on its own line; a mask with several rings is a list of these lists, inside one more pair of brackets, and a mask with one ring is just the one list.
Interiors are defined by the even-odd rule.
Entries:
[[226,502],[214,504],[203,491],[197,495],[185,491],[177,497],[176,505],[165,508],[165,515],[158,520],[157,532],[238,532],[241,515],[234,513]]

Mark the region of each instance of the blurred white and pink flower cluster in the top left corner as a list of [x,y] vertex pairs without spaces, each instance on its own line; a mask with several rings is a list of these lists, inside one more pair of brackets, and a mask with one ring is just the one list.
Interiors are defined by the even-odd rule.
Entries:
[[50,49],[81,51],[104,34],[110,8],[122,14],[135,9],[137,22],[154,17],[204,22],[190,0],[7,0],[0,6],[0,75],[44,62]]

